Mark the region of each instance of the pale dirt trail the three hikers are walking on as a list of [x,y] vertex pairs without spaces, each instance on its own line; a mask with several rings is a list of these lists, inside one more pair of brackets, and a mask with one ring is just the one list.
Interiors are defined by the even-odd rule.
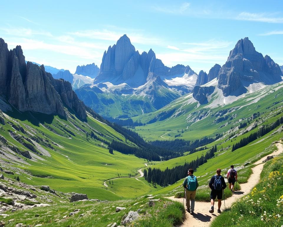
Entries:
[[[262,171],[262,168],[264,166],[263,160],[266,159],[267,156],[270,155],[279,155],[283,152],[283,145],[281,143],[282,141],[278,142],[276,144],[278,150],[274,151],[272,154],[266,155],[254,164],[254,168],[252,168],[252,174],[248,179],[247,183],[241,184],[241,191],[235,192],[232,197],[229,197],[225,199],[225,206],[226,208],[230,207],[232,203],[234,203],[236,200],[241,198],[242,196],[248,194],[251,189],[254,188],[254,186],[258,183],[260,179],[260,173]],[[168,197],[171,200],[183,202],[183,198],[174,198],[174,196]],[[184,205],[186,202],[184,202]],[[217,213],[217,202],[214,204],[214,213],[209,213],[208,210],[210,209],[210,202],[195,202],[195,215],[191,215],[190,213],[185,213],[185,221],[180,227],[190,226],[190,227],[203,227],[203,226],[210,226],[210,222],[217,217],[219,214]],[[224,210],[224,202],[222,201],[221,210]]]

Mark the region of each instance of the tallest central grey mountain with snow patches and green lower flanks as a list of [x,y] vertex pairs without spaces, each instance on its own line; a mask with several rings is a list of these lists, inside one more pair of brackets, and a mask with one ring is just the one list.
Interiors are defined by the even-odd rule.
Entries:
[[[101,103],[91,104],[100,114],[133,116],[137,110],[137,114],[147,113],[191,92],[196,79],[197,74],[189,66],[166,67],[152,49],[140,54],[123,35],[104,52],[93,84],[84,85],[76,93],[85,103],[90,102],[86,100],[89,97],[101,100]],[[121,107],[117,107],[116,100]],[[118,109],[114,115],[113,108]],[[105,110],[108,111],[105,113]]]

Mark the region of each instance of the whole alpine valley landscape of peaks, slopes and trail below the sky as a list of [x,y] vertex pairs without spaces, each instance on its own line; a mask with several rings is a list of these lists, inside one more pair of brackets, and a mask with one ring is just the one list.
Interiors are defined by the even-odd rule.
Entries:
[[[282,78],[247,37],[198,74],[126,35],[100,69],[74,74],[0,38],[0,226],[281,226]],[[208,213],[208,181],[231,163],[238,192]],[[189,168],[195,214],[182,204]]]

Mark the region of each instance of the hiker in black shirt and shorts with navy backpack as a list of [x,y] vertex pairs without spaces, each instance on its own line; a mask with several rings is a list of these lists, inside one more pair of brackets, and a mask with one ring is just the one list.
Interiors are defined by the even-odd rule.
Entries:
[[221,169],[216,170],[216,174],[211,177],[210,182],[209,182],[209,187],[211,189],[210,192],[210,199],[211,199],[211,209],[209,210],[209,213],[214,212],[214,200],[217,197],[218,200],[218,213],[221,213],[220,207],[221,207],[221,200],[222,200],[222,194],[223,190],[227,187],[224,177],[220,175],[221,174]]

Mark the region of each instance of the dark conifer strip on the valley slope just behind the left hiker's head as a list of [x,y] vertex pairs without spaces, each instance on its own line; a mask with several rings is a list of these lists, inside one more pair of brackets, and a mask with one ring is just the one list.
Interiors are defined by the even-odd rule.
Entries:
[[162,187],[165,187],[169,184],[174,184],[176,181],[187,176],[188,169],[192,168],[196,170],[199,166],[206,163],[208,159],[214,157],[214,153],[217,151],[216,145],[212,147],[205,155],[201,155],[201,157],[196,160],[189,162],[185,162],[183,166],[175,166],[172,169],[168,167],[162,171],[159,168],[151,168],[148,170],[144,169],[144,179],[152,184],[159,184]]

